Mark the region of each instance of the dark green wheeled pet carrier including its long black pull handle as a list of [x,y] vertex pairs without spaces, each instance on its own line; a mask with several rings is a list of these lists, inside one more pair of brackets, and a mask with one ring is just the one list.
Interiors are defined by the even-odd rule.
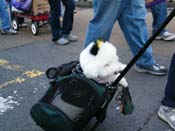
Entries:
[[[46,76],[50,80],[50,87],[30,111],[36,124],[45,131],[82,131],[96,117],[97,121],[92,127],[94,130],[105,119],[108,105],[116,92],[122,105],[121,112],[131,114],[134,106],[129,88],[122,88],[118,83],[174,15],[175,9],[113,83],[99,84],[87,79],[78,61],[49,68]],[[122,90],[119,91],[119,88]]]

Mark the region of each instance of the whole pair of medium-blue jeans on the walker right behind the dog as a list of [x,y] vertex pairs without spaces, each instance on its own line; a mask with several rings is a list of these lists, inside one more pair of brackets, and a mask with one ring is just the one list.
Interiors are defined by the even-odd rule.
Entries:
[[[145,1],[94,0],[93,2],[94,17],[87,29],[85,47],[98,38],[109,40],[112,28],[118,20],[133,55],[136,55],[148,39]],[[151,46],[136,64],[141,67],[155,64]]]

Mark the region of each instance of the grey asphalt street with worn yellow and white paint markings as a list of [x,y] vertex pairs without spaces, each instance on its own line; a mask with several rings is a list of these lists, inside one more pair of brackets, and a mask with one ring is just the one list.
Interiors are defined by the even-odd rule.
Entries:
[[[18,35],[0,35],[0,103],[3,103],[0,105],[0,109],[3,109],[0,110],[0,131],[42,131],[31,119],[29,112],[31,106],[49,87],[44,72],[49,67],[79,58],[86,27],[91,17],[91,9],[77,9],[73,33],[79,36],[79,41],[67,46],[54,45],[50,41],[48,26],[41,28],[38,36],[32,35],[30,26],[20,29]],[[150,13],[147,22],[151,35]],[[175,33],[174,23],[175,18],[167,29]],[[28,24],[30,25],[29,21]],[[116,45],[120,60],[127,64],[132,59],[132,54],[117,23],[110,41]],[[168,67],[175,51],[175,41],[154,41],[152,46],[155,59]],[[129,116],[120,114],[115,109],[115,101],[112,101],[106,120],[96,130],[172,131],[156,114],[163,97],[167,76],[140,74],[131,68],[126,78],[135,105],[134,113]],[[88,131],[93,123],[94,120],[85,130]]]

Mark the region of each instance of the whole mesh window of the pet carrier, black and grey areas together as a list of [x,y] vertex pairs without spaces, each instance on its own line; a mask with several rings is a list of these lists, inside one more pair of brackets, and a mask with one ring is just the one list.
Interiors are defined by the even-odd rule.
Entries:
[[97,98],[95,87],[79,78],[66,78],[58,83],[52,105],[74,120]]

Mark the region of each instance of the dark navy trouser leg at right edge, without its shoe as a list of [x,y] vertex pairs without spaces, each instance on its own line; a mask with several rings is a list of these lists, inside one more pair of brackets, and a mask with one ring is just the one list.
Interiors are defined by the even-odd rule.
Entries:
[[162,104],[169,107],[175,107],[175,53],[172,57],[168,80],[165,88],[165,96]]

